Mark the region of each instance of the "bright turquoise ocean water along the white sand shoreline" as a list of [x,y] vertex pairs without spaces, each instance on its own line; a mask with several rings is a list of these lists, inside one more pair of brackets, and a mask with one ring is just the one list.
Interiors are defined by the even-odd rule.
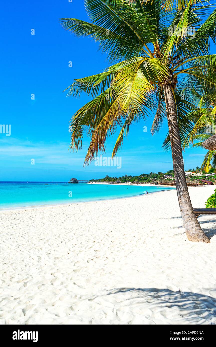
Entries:
[[170,190],[118,184],[69,184],[64,182],[0,182],[0,209],[106,200]]

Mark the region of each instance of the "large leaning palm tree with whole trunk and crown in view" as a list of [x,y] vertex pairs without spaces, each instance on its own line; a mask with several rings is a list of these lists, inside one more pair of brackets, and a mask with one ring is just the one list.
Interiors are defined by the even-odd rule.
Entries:
[[192,129],[186,115],[196,108],[185,98],[187,91],[182,92],[178,79],[195,90],[201,81],[206,89],[214,85],[216,56],[209,54],[209,40],[216,36],[216,10],[206,18],[209,6],[189,4],[167,12],[162,0],[135,0],[130,5],[123,0],[86,0],[85,5],[92,23],[63,18],[63,27],[78,36],[93,37],[115,64],[103,73],[76,79],[68,87],[68,95],[84,91],[93,98],[71,119],[71,150],[81,148],[86,130],[91,137],[84,162],[87,165],[105,151],[106,137],[120,126],[112,153],[115,156],[130,125],[145,119],[149,109],[156,109],[152,132],[167,118],[166,145],[171,145],[186,235],[193,242],[209,243],[193,212],[182,158],[181,141]]

